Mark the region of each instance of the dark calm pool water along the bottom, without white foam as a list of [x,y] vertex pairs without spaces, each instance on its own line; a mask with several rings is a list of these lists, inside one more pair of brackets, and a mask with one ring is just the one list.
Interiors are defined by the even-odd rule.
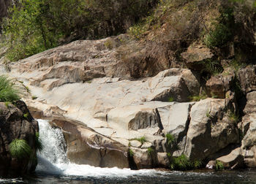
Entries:
[[37,173],[32,177],[0,180],[0,183],[173,183],[173,184],[256,184],[256,170],[209,172],[165,172],[154,176],[77,177]]

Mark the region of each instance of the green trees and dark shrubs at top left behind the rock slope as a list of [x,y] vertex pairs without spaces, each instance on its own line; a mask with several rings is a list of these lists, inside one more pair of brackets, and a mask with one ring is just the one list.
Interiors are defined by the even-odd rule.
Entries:
[[74,39],[124,32],[127,20],[148,15],[154,1],[20,0],[3,20],[7,58],[17,61]]

